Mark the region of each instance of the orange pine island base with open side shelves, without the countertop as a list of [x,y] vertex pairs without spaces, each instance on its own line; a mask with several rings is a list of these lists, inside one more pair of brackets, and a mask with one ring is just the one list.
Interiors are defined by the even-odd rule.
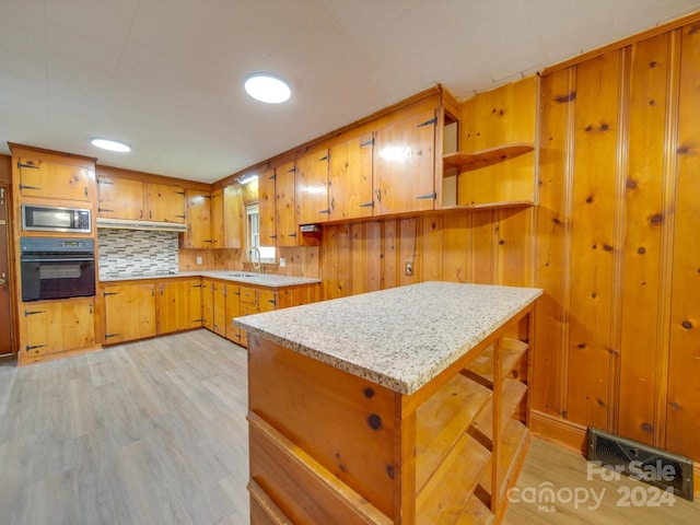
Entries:
[[530,441],[533,312],[411,394],[249,332],[252,524],[500,523]]

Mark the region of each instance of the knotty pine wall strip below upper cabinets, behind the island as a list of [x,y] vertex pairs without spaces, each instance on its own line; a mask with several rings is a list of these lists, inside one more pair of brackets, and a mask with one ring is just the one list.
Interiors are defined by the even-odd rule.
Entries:
[[[429,280],[532,285],[533,213],[459,210],[325,225],[324,299]],[[413,276],[406,276],[411,258]]]

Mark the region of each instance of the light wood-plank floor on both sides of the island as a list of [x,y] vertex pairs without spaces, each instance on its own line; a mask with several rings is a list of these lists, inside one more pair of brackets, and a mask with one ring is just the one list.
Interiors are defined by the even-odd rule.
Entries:
[[[0,523],[245,525],[246,404],[246,351],[206,330],[0,364]],[[544,482],[557,501],[527,502]],[[648,486],[587,480],[580,455],[534,440],[505,523],[700,523],[698,502],[622,508],[619,487]]]

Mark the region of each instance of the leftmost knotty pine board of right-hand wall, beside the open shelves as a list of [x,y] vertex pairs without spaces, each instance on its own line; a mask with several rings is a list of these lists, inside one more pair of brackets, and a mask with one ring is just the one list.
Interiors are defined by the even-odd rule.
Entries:
[[567,241],[571,228],[573,112],[575,68],[541,79],[539,124],[539,180],[537,208],[537,301],[533,357],[532,406],[563,416],[568,371],[569,294]]

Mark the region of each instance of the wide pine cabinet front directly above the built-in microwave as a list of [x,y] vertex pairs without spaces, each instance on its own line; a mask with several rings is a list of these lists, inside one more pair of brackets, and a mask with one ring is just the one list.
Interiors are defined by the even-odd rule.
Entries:
[[23,197],[92,201],[94,170],[85,166],[20,159],[20,191]]

